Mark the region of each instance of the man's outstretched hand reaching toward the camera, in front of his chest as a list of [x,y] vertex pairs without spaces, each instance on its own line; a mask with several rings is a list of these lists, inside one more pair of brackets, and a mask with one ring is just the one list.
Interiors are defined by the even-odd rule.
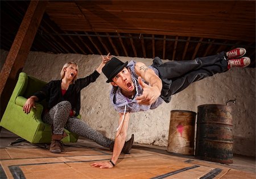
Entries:
[[141,77],[138,77],[139,85],[143,88],[143,93],[136,98],[139,105],[152,105],[160,96],[160,90],[154,86],[145,84]]

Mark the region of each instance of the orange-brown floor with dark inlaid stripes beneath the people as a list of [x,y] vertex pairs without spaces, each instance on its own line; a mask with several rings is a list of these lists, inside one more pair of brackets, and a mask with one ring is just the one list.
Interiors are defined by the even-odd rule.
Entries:
[[112,152],[93,141],[80,139],[54,154],[44,144],[6,145],[9,140],[14,139],[1,136],[0,178],[256,178],[251,161],[224,165],[134,145],[130,155],[119,157],[117,166],[100,169],[90,164],[110,160]]

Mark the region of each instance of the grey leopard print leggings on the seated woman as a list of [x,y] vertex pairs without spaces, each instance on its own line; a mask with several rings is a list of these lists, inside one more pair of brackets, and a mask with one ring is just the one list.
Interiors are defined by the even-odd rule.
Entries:
[[43,122],[53,125],[53,134],[63,134],[65,127],[68,131],[93,140],[104,147],[109,147],[114,142],[103,136],[100,132],[90,128],[88,124],[79,118],[69,116],[70,111],[70,102],[62,101],[57,103],[48,113],[44,114]]

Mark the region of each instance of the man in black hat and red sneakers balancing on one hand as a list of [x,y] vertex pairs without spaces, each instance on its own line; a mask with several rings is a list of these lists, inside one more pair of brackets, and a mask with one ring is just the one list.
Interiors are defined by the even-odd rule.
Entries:
[[131,60],[130,63],[113,57],[102,72],[113,85],[110,101],[119,113],[119,127],[115,135],[112,159],[94,163],[92,166],[113,168],[117,164],[127,135],[130,113],[156,109],[160,104],[170,102],[171,95],[187,88],[192,82],[226,72],[232,67],[245,67],[250,64],[244,48],[236,48],[217,55],[200,57],[195,60],[169,61],[163,63],[159,57],[151,66]]

